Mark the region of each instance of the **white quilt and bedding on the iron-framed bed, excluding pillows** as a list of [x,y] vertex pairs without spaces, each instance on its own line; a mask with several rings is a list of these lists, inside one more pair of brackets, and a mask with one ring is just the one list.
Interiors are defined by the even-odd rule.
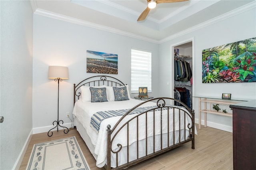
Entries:
[[[92,115],[94,113],[98,112],[98,111],[131,109],[134,106],[136,106],[136,105],[138,105],[139,103],[142,103],[142,102],[143,101],[130,99],[130,100],[127,100],[127,101],[108,101],[108,102],[102,102],[102,103],[91,103],[90,101],[88,101],[88,102],[77,101],[75,103],[74,110],[73,110],[73,115],[74,115],[74,118],[78,119],[80,121],[80,123],[82,123],[82,126],[86,130],[88,136],[90,136],[90,140],[91,140],[92,144],[95,147],[94,153],[97,155],[96,166],[103,167],[106,164],[106,140],[107,140],[107,131],[106,131],[107,128],[106,127],[107,127],[107,125],[111,125],[111,129],[112,129],[114,127],[114,125],[116,124],[116,122],[120,119],[120,117],[119,116],[118,117],[111,117],[111,118],[103,120],[101,122],[101,125],[100,125],[100,130],[97,133],[95,130],[93,130],[93,128],[90,127],[90,119],[91,119]],[[141,107],[148,107],[148,106],[152,106],[152,105],[156,105],[156,103],[148,102],[148,103],[145,103],[145,105],[142,105]],[[148,115],[148,120],[150,120],[151,117],[153,117],[152,114],[153,113]],[[136,114],[134,114],[134,115],[136,115]],[[129,115],[128,119],[130,119],[131,117],[134,117],[134,115]],[[164,118],[163,120],[167,120],[165,118],[164,114],[162,116]],[[178,119],[178,117],[175,117],[175,118]],[[160,120],[160,116],[156,116],[156,119]],[[186,118],[186,123],[188,121],[189,121],[189,119]],[[181,122],[183,122],[182,121],[182,116],[181,116]],[[191,124],[191,122],[190,122],[190,124]],[[134,122],[134,125],[136,125],[135,122]],[[132,123],[131,123],[130,126],[132,127]],[[155,133],[160,134],[160,128],[158,128],[158,127],[160,127],[160,125],[156,124],[155,126],[156,126]],[[178,128],[179,128],[179,126],[178,127],[177,126],[178,125],[175,124],[175,136],[177,136],[175,138],[175,143],[179,142],[178,141],[179,134],[176,134],[176,132],[178,131]],[[134,126],[134,127],[136,127],[136,126]],[[140,128],[140,127],[142,127],[142,128]],[[139,129],[143,129],[143,127],[145,127],[145,122],[144,121],[139,121]],[[172,127],[172,125],[169,125],[169,127]],[[148,123],[148,128],[153,129],[153,125]],[[181,123],[180,129],[184,129],[184,123]],[[136,133],[134,133],[134,130],[136,130],[136,129],[129,128],[129,130],[132,132],[131,134],[129,134],[130,135],[130,137],[129,137],[129,146],[132,146],[132,145],[134,145],[134,142],[136,142]],[[124,131],[126,131],[126,130],[124,129]],[[139,134],[143,134],[142,131],[143,130],[140,130]],[[148,130],[148,137],[153,135],[152,131],[153,130]],[[163,133],[167,133],[167,127],[164,128]],[[182,131],[182,133],[184,134],[184,131]],[[196,133],[196,128],[195,128],[195,133]],[[130,138],[132,138],[132,135],[135,138],[130,139]],[[166,137],[166,136],[164,136],[164,137]],[[186,132],[186,137],[187,136],[189,136],[188,131]],[[122,140],[126,141],[126,134],[120,133],[119,136],[117,136],[117,138],[118,139],[121,138]],[[139,140],[141,140],[141,142],[143,142],[144,138],[145,138],[145,135],[140,135]],[[149,140],[153,140],[153,139],[150,138]],[[184,137],[181,137],[181,140],[184,140]],[[160,140],[156,140],[156,142],[158,142],[158,141],[160,141]],[[173,143],[172,138],[170,138],[169,141],[170,141],[170,143]],[[114,140],[113,145],[112,145],[113,150],[118,150],[118,147],[117,147],[118,143],[120,143],[119,140]],[[125,147],[126,145],[127,145],[127,143],[126,144],[122,143],[123,147]],[[114,148],[114,146],[116,146],[116,147]],[[159,143],[159,145],[156,144],[156,149],[159,149],[158,146],[160,146],[160,143]],[[166,147],[167,144],[163,143],[163,146]],[[131,147],[129,147],[129,149],[132,150]],[[145,152],[145,149],[142,148],[142,150],[140,152],[141,152],[140,155],[143,155],[144,152]],[[153,151],[152,151],[152,149],[151,150],[149,149],[148,152],[150,153],[150,152],[153,152]],[[131,154],[129,154],[129,155],[131,155]],[[134,158],[131,157],[130,159],[134,159]],[[126,163],[126,159],[118,160],[118,162],[119,162],[119,164]],[[115,162],[111,162],[111,165],[112,164],[115,164]],[[112,166],[114,167],[115,165],[112,165]]]

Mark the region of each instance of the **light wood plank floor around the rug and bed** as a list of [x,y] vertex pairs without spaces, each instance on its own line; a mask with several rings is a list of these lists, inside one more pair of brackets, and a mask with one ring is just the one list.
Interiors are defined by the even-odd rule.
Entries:
[[[196,127],[198,135],[195,136],[195,149],[191,149],[191,142],[189,142],[170,152],[129,168],[129,170],[232,170],[232,133],[210,127],[198,129],[198,124],[196,124]],[[104,169],[96,167],[96,160],[76,130],[70,130],[68,134],[64,134],[63,130],[59,130],[59,132],[54,131],[51,137],[47,136],[47,132],[32,135],[20,170],[26,169],[34,144],[69,136],[76,136],[91,170]]]

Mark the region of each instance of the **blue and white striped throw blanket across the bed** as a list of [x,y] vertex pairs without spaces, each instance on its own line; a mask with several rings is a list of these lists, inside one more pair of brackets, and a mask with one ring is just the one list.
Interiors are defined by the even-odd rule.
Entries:
[[[167,106],[167,105],[166,105]],[[171,106],[169,107],[176,107],[176,108],[184,108],[182,106]],[[149,107],[139,107],[134,109],[129,115],[136,114],[136,113],[143,113],[144,111],[153,111],[156,106],[149,106]],[[160,111],[161,108],[155,109],[155,111]],[[168,109],[167,107],[162,107],[162,110]],[[100,129],[100,123],[107,118],[115,117],[115,116],[122,116],[126,114],[130,109],[122,109],[122,110],[113,110],[113,111],[99,111],[92,115],[91,117],[91,123],[90,126],[96,130],[96,132],[99,132]]]

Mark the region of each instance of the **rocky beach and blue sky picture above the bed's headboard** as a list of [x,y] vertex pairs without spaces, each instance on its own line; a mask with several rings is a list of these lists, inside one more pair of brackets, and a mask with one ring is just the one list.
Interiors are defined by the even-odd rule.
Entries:
[[97,51],[86,51],[86,73],[118,73],[118,55]]

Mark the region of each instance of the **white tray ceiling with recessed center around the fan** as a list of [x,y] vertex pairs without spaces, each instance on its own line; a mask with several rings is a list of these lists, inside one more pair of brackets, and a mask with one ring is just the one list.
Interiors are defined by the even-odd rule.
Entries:
[[210,20],[216,22],[226,14],[234,15],[236,11],[256,6],[255,0],[164,3],[150,10],[146,20],[137,22],[138,16],[146,9],[146,0],[34,0],[31,3],[36,14],[63,20],[65,17],[72,18],[88,26],[152,42],[164,41],[191,28],[203,26]]

